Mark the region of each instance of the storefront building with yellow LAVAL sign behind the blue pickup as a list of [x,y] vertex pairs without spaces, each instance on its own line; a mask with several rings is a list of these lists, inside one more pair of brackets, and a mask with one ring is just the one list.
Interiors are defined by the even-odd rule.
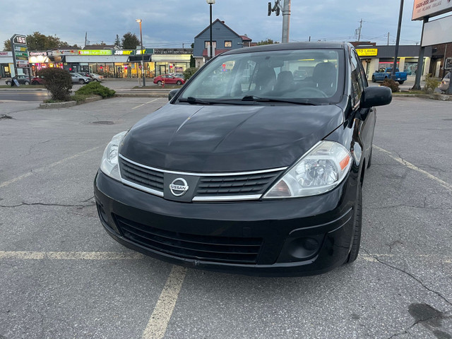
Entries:
[[[377,46],[372,42],[355,44],[359,59],[362,61],[364,71],[366,71],[367,80],[371,80],[372,73],[379,69],[392,67],[394,64],[394,55],[396,46]],[[419,59],[420,46],[418,45],[400,45],[398,49],[397,67],[400,71],[407,72],[408,79],[415,79],[417,73],[417,60]],[[424,63],[422,66],[422,77],[429,73],[430,61],[432,59],[432,47],[426,47],[424,52]]]

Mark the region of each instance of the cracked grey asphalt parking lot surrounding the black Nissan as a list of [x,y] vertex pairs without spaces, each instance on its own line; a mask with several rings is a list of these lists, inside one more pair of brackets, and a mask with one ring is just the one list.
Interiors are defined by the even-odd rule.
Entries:
[[165,105],[0,103],[0,338],[452,338],[452,103],[377,111],[355,263],[257,278],[172,266],[102,229],[111,137]]

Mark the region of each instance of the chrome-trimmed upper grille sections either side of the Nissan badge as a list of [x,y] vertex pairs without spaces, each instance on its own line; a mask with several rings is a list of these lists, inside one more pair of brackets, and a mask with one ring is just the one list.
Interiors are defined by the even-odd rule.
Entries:
[[[119,169],[123,182],[126,181],[124,184],[132,183],[138,189],[163,196],[164,170],[139,165],[122,156],[119,157]],[[285,168],[278,168],[240,174],[184,174],[199,177],[194,201],[234,201],[245,200],[247,197],[260,198],[284,170]]]

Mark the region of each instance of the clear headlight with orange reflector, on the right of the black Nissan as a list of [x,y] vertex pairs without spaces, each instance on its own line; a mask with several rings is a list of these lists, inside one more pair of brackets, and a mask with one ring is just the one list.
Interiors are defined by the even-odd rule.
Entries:
[[315,196],[338,186],[352,165],[350,152],[340,143],[321,141],[311,148],[263,198]]

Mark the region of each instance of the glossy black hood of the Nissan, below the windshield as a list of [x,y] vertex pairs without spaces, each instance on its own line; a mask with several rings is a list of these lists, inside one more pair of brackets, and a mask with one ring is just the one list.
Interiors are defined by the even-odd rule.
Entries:
[[183,172],[285,167],[342,122],[335,105],[167,104],[132,127],[119,153]]

